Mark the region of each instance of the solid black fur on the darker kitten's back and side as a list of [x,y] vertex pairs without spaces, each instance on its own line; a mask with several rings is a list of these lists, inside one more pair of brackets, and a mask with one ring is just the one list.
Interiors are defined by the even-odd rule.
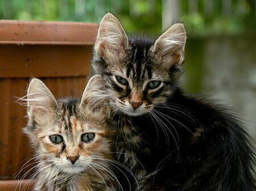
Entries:
[[[151,118],[133,118],[133,125],[138,125],[138,131],[143,131],[142,134],[148,137],[146,142],[151,150],[150,154],[138,158],[147,173],[151,174],[142,179],[142,190],[256,189],[255,150],[236,117],[209,101],[184,96],[179,90],[167,105],[170,109],[156,107],[156,110],[173,118],[158,115],[175,138],[179,137],[179,150],[171,133],[168,133],[172,140],[167,149],[165,135],[160,130],[156,144],[155,128],[159,127],[155,127]],[[179,111],[176,107],[180,108]],[[200,126],[203,131],[195,139],[192,133]]]

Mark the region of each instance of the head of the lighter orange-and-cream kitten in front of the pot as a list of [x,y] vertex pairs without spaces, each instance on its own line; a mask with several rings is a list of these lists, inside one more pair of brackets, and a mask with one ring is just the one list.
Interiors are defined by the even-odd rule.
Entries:
[[101,159],[110,158],[113,130],[102,88],[104,82],[96,75],[88,82],[81,100],[56,100],[41,80],[31,80],[24,132],[36,159],[48,165],[52,173],[80,173],[97,160],[104,163]]

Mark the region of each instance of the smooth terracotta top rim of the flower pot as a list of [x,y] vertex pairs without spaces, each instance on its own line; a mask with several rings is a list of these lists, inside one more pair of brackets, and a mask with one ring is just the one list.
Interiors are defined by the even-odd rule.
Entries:
[[93,45],[98,24],[32,20],[0,20],[0,44]]

